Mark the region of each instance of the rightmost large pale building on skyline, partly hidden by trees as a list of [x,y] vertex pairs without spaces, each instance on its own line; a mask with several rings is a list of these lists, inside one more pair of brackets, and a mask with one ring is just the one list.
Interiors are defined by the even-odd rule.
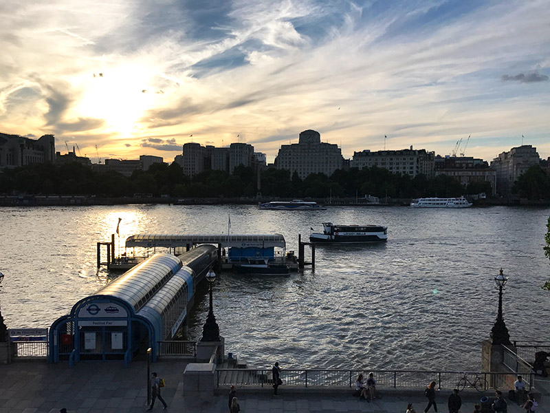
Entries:
[[533,165],[539,165],[536,148],[522,145],[503,152],[491,162],[491,168],[496,171],[496,191],[501,196],[511,195],[511,187],[522,173]]

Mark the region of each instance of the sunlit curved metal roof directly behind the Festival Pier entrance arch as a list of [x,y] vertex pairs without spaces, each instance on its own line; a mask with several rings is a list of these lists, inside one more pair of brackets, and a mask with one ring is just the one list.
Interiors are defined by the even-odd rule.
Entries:
[[98,295],[118,297],[137,311],[181,268],[175,255],[155,254],[97,291]]

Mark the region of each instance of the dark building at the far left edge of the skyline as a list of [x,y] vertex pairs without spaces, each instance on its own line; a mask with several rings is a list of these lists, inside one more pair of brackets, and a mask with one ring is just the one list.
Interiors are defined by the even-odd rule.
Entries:
[[0,134],[0,169],[24,167],[33,163],[55,162],[56,146],[53,135],[39,139]]

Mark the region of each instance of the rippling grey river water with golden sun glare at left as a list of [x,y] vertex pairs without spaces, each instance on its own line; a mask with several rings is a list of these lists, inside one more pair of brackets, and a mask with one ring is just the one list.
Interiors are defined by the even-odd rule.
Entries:
[[[511,339],[550,339],[550,293],[540,288],[550,276],[542,251],[549,215],[519,207],[1,207],[1,310],[8,328],[49,327],[104,286],[113,275],[97,270],[96,242],[110,240],[118,218],[121,244],[135,233],[227,233],[230,217],[231,233],[282,233],[296,253],[298,234],[307,240],[322,222],[383,224],[386,244],[318,246],[314,272],[219,275],[214,314],[226,352],[259,368],[278,360],[284,368],[476,370],[500,267]],[[186,338],[201,337],[207,312],[202,286]]]

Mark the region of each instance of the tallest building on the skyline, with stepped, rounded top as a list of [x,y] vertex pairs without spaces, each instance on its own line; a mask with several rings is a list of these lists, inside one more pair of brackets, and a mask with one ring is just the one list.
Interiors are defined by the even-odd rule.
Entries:
[[281,145],[275,158],[277,169],[287,169],[298,173],[301,179],[310,173],[324,173],[331,176],[337,169],[342,169],[344,158],[338,145],[321,142],[318,131],[300,132],[298,143]]

